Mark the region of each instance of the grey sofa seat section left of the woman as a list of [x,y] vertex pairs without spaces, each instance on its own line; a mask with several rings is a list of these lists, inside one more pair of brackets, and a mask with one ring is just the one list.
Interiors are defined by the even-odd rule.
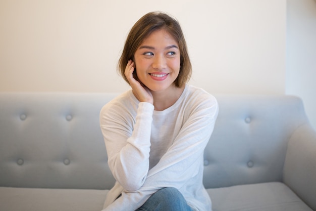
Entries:
[[0,210],[100,211],[108,190],[0,187]]

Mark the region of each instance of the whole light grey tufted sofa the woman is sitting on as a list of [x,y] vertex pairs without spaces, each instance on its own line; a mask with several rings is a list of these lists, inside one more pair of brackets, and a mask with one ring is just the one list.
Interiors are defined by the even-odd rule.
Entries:
[[[99,111],[116,95],[1,93],[0,210],[101,210],[115,181]],[[215,96],[204,153],[213,210],[316,210],[316,133],[302,101]]]

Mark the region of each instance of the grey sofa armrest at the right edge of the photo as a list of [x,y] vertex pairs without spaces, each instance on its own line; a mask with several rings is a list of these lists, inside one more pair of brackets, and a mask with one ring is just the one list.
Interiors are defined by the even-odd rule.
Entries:
[[316,210],[316,132],[309,124],[296,129],[289,140],[283,180]]

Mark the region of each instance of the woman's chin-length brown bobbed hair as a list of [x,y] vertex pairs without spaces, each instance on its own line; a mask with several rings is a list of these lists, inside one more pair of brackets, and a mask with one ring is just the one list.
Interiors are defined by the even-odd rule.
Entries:
[[[134,54],[137,48],[142,44],[152,32],[165,29],[170,35],[178,41],[180,50],[180,71],[174,81],[176,87],[182,87],[191,77],[192,67],[187,51],[186,41],[182,33],[180,24],[177,20],[162,12],[150,12],[141,17],[131,28],[119,59],[118,69],[124,80],[128,82],[124,72],[128,60],[134,61]],[[136,71],[134,71],[136,73]],[[138,80],[137,75],[134,78]]]

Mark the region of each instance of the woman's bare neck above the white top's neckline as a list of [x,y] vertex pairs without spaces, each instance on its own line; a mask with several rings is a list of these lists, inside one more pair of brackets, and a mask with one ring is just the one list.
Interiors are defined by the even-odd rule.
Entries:
[[185,85],[181,88],[171,86],[169,89],[162,92],[151,91],[153,97],[153,106],[155,111],[163,111],[177,102],[180,98]]

